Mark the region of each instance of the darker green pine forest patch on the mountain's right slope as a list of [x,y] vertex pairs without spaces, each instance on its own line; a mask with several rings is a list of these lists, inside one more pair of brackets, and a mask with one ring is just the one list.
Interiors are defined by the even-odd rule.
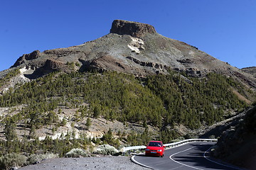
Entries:
[[222,120],[225,110],[239,111],[247,106],[230,91],[230,79],[220,74],[210,73],[204,79],[157,75],[148,77],[145,83],[164,102],[165,125],[181,123],[199,128],[202,123],[211,125]]

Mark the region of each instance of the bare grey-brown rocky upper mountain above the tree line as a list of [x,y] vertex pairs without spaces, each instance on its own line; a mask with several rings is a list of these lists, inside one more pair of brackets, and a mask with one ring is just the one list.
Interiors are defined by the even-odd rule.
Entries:
[[[73,65],[72,65],[73,64]],[[12,68],[24,68],[24,76],[35,79],[55,70],[71,72],[114,70],[146,76],[166,74],[168,69],[202,77],[209,72],[225,74],[256,89],[250,74],[198,50],[185,42],[166,38],[153,26],[144,23],[115,20],[110,33],[73,47],[35,50],[18,58]]]

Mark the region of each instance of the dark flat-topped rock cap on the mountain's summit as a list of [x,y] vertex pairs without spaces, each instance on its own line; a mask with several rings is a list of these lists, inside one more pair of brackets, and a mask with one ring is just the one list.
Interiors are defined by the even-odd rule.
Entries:
[[156,33],[154,26],[146,23],[137,23],[132,21],[114,20],[110,33],[120,35],[132,35],[135,38],[140,38],[144,33]]

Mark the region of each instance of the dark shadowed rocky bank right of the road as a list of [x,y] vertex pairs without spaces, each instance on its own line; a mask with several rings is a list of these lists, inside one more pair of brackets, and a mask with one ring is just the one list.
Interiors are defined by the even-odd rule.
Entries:
[[223,132],[213,154],[215,157],[254,169],[256,159],[256,106],[251,108],[239,123]]

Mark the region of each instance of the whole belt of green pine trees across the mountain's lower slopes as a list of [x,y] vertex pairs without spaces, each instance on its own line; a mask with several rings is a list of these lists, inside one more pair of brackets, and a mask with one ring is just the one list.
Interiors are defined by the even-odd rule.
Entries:
[[[231,86],[241,93],[246,91],[233,79],[214,73],[197,79],[176,72],[146,78],[117,72],[55,72],[18,84],[0,96],[2,108],[23,106],[17,114],[1,117],[6,137],[6,141],[0,141],[1,155],[8,152],[53,152],[63,156],[75,147],[88,148],[90,142],[115,147],[119,147],[120,142],[123,145],[144,145],[152,137],[164,143],[171,142],[179,137],[174,125],[196,129],[246,108],[247,104],[233,94]],[[60,119],[60,106],[77,108],[77,111],[72,118]],[[76,139],[75,132],[70,131],[59,139],[46,137],[41,141],[35,134],[35,130],[43,126],[55,131],[67,121],[75,123],[86,119],[89,127],[90,118],[118,120],[124,125],[138,123],[145,131],[142,134],[113,134],[110,129],[101,139],[91,139],[85,134]],[[158,128],[159,134],[151,136],[148,125]],[[30,129],[30,133],[18,139],[16,128]]]

